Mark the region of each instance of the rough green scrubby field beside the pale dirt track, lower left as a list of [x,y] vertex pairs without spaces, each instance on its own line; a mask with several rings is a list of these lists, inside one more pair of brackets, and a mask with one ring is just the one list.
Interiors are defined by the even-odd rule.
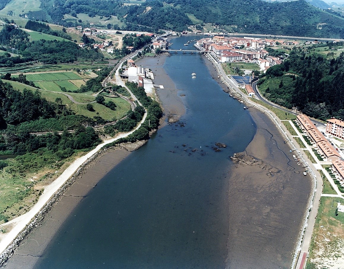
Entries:
[[0,222],[29,211],[44,187],[84,154],[79,151],[56,161],[50,151],[38,151],[8,159],[8,166],[0,170]]

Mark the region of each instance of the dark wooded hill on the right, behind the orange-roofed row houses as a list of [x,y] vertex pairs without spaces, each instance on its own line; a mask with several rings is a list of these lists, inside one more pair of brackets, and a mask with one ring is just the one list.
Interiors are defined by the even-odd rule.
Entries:
[[282,64],[270,67],[258,84],[264,96],[279,105],[298,107],[322,120],[344,118],[344,53],[328,60],[293,50]]

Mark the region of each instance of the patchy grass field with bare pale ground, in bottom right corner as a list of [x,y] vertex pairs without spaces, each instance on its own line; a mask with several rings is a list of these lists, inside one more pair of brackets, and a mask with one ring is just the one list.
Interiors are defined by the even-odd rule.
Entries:
[[306,268],[342,268],[344,264],[344,213],[335,216],[343,199],[321,197]]

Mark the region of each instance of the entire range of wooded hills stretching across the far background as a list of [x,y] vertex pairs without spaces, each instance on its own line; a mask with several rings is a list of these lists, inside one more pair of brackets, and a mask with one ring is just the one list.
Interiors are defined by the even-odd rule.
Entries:
[[[123,3],[122,0],[41,0],[42,10],[32,14],[35,18],[68,26],[73,26],[73,21],[64,20],[64,14],[77,17],[79,13],[87,13],[90,17],[116,15],[127,25],[155,29],[182,31],[189,25],[212,23],[228,32],[344,39],[344,18],[317,9],[304,0],[273,3],[260,0],[147,0],[129,6]],[[74,24],[78,23],[77,18],[74,19]]]

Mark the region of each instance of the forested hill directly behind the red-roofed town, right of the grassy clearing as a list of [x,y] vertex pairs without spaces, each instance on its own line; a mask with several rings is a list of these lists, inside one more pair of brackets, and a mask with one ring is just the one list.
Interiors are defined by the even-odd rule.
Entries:
[[225,29],[234,32],[344,38],[344,19],[316,9],[303,0],[283,3],[260,0],[167,2],[203,22],[226,25]]

